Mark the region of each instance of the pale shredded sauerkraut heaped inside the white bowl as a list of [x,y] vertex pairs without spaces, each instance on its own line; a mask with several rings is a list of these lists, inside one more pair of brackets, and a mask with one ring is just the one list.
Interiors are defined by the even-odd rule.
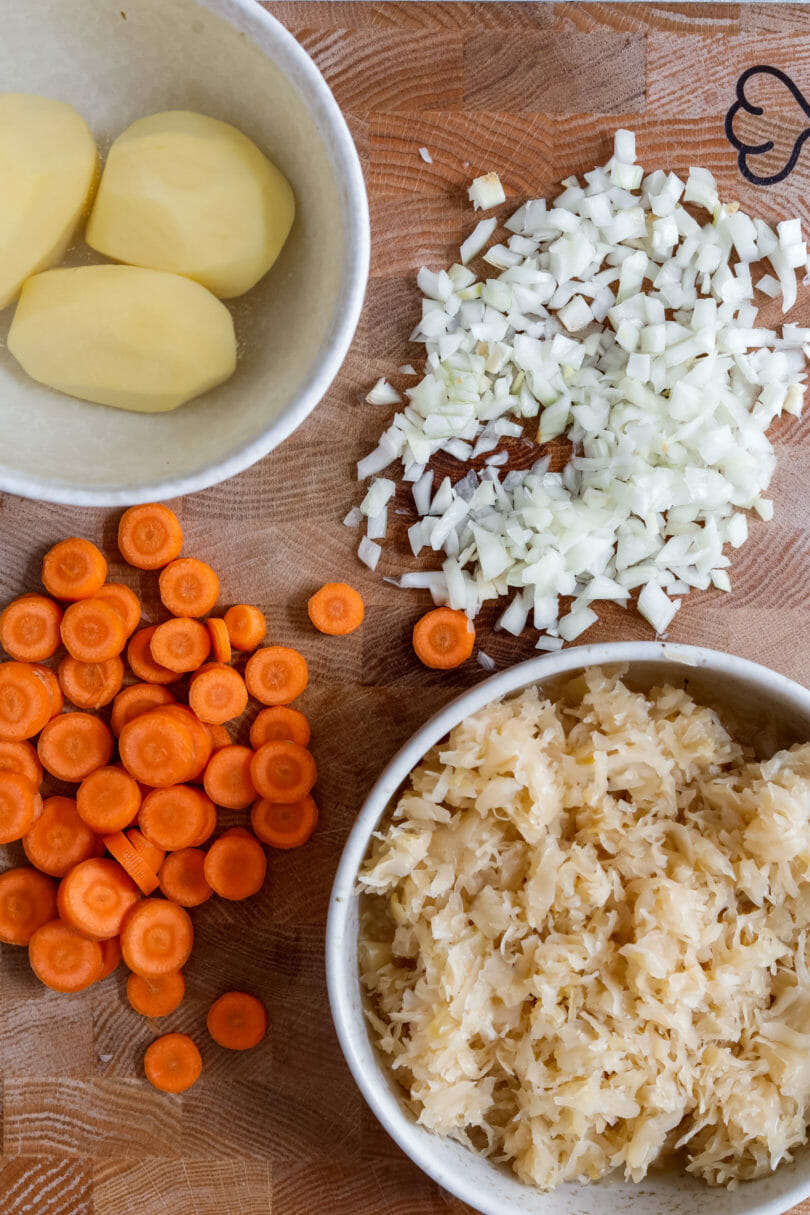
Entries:
[[810,745],[755,762],[590,669],[458,725],[359,875],[359,966],[418,1120],[553,1188],[805,1142]]

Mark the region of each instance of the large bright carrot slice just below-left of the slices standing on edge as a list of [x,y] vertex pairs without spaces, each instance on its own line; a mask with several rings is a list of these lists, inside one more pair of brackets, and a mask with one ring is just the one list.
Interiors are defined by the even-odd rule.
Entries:
[[120,934],[126,914],[141,893],[117,860],[94,857],[64,875],[56,898],[60,915],[77,932],[106,940]]

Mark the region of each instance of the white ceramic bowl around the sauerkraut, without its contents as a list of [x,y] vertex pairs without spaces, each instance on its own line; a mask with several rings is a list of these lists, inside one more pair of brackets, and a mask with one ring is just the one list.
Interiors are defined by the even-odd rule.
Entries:
[[548,694],[587,666],[628,666],[628,680],[648,688],[687,680],[696,699],[727,707],[735,733],[761,753],[810,739],[810,691],[754,662],[685,645],[621,642],[585,645],[533,659],[485,680],[432,717],[387,765],[369,793],[344,850],[327,925],[327,979],[338,1036],[366,1101],[389,1135],[435,1181],[485,1215],[781,1215],[810,1194],[810,1148],[769,1177],[737,1189],[708,1189],[680,1172],[651,1174],[642,1183],[608,1179],[566,1183],[549,1194],[505,1169],[418,1126],[401,1090],[372,1046],[357,968],[357,871],[370,835],[408,773],[448,730],[489,701],[539,684]]

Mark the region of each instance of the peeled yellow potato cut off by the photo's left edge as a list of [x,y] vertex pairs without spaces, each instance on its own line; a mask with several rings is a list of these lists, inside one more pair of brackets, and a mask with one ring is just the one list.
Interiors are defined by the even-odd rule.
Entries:
[[73,106],[0,94],[0,307],[60,260],[97,176],[96,145]]

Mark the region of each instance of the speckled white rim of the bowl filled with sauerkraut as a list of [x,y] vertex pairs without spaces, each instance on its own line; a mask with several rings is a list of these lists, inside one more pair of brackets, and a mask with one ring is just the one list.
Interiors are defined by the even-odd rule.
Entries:
[[[505,1215],[508,1208],[500,1199],[493,1199],[491,1203],[487,1196],[481,1193],[480,1187],[469,1180],[463,1171],[453,1170],[451,1172],[449,1169],[440,1169],[430,1152],[424,1148],[417,1124],[404,1114],[396,1097],[384,1084],[379,1083],[376,1075],[369,1078],[363,1068],[363,1061],[356,1049],[352,1034],[352,1027],[355,1027],[356,1033],[357,1017],[349,998],[342,950],[349,910],[355,895],[356,875],[366,855],[370,833],[402,781],[419,759],[463,718],[483,708],[491,701],[508,696],[536,680],[554,678],[590,666],[662,660],[686,667],[708,667],[723,671],[729,676],[753,680],[772,693],[803,701],[810,714],[810,690],[787,676],[771,671],[770,667],[721,650],[668,642],[602,642],[593,645],[571,646],[555,654],[544,654],[498,672],[476,684],[475,688],[461,693],[408,739],[384,768],[363,802],[338,865],[327,917],[325,971],[332,1019],[349,1069],[367,1104],[400,1148],[437,1185],[483,1215]],[[800,1180],[770,1199],[752,1203],[750,1206],[744,1208],[744,1211],[746,1215],[782,1215],[809,1194],[810,1180]],[[707,1200],[710,1200],[710,1191],[707,1192]]]

